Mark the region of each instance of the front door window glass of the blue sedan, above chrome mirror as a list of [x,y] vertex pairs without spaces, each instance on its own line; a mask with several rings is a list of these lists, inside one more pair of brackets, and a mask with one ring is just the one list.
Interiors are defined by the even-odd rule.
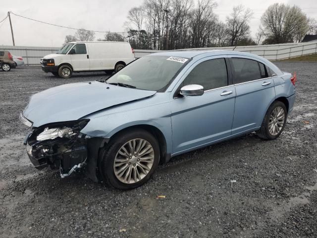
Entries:
[[226,62],[223,58],[207,60],[198,64],[185,78],[183,85],[198,84],[204,90],[228,85]]

